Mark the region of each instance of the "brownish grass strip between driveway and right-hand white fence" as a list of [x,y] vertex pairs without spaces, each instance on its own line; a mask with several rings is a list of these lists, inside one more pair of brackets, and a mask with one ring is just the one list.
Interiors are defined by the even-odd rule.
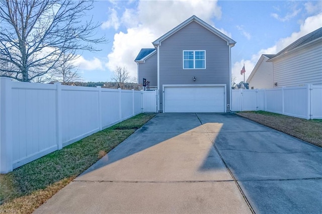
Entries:
[[305,120],[262,111],[236,114],[322,147],[322,120]]

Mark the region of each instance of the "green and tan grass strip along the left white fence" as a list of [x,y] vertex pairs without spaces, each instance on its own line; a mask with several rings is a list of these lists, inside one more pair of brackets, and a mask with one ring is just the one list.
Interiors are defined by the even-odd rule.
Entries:
[[139,114],[8,174],[0,174],[0,211],[32,213],[154,116]]

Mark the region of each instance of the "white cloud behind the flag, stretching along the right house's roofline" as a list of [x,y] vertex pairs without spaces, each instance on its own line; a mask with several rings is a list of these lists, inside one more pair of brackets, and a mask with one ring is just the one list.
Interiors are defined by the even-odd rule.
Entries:
[[245,69],[246,69],[246,73],[245,73],[245,81],[246,81],[262,54],[277,54],[279,51],[286,48],[292,42],[296,41],[302,36],[305,36],[308,33],[311,33],[312,31],[320,27],[322,27],[322,13],[316,16],[311,16],[306,18],[305,21],[300,25],[300,30],[298,32],[292,33],[289,37],[281,38],[272,47],[261,49],[260,51],[258,51],[257,54],[252,55],[251,59],[243,59],[243,60],[240,60],[239,62],[234,62],[231,68],[231,73],[232,75],[237,77],[236,82],[240,82],[244,80],[244,77],[240,75],[240,70],[241,68],[243,68],[244,63],[245,63]]

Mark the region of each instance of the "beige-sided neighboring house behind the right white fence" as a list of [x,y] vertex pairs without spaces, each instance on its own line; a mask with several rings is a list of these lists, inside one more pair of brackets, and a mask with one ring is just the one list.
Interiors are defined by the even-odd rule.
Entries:
[[[277,54],[268,57],[267,60],[262,57],[258,64],[270,68],[265,70],[257,68],[256,65],[247,79],[250,87],[322,85],[322,28],[299,38]],[[261,60],[265,63],[260,62]],[[266,82],[263,82],[263,79]]]

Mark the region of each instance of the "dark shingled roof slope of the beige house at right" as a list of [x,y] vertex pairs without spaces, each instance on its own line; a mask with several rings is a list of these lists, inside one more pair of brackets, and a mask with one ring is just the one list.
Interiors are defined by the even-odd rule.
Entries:
[[[278,52],[274,57],[272,57],[271,59],[277,58],[281,55],[284,55],[286,53],[289,53],[290,51],[297,49],[299,47],[302,47],[314,40],[317,40],[319,38],[322,38],[322,28],[319,28],[305,36],[302,36],[301,38],[299,38],[298,40],[296,40],[295,42],[293,42],[292,44],[290,44],[289,46],[287,46],[286,48],[284,48],[283,50],[281,50],[280,52]],[[271,61],[270,59],[270,61]]]

